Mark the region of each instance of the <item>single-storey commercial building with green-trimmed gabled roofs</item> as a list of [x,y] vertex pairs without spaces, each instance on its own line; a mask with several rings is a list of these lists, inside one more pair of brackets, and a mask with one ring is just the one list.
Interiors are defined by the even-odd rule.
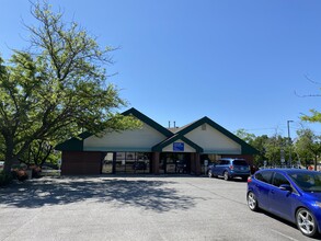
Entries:
[[[62,151],[61,174],[187,173],[200,174],[204,163],[219,158],[244,158],[252,164],[257,150],[208,117],[181,128],[165,128],[130,108],[142,123],[134,130],[81,134],[56,147]],[[205,161],[207,160],[207,161]]]

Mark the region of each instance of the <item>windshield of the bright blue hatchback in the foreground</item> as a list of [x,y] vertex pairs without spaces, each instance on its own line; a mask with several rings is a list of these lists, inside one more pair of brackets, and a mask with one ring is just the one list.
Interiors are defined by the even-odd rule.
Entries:
[[321,192],[321,173],[290,173],[291,180],[305,192]]

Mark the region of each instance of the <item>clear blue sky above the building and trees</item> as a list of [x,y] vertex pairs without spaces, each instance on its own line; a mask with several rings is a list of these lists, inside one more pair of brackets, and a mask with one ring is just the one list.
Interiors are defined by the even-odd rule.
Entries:
[[[163,126],[208,116],[232,133],[287,136],[291,119],[294,136],[301,113],[321,111],[321,97],[298,96],[321,94],[320,0],[49,2],[101,46],[119,47],[110,81],[129,107]],[[27,46],[22,20],[34,22],[28,1],[1,1],[4,58]],[[321,135],[321,124],[303,125]]]

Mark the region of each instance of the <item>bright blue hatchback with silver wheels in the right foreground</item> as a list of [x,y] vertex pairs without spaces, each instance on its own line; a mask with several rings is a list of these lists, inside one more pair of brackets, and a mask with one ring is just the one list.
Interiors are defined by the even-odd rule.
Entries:
[[265,169],[248,179],[248,206],[297,225],[307,237],[321,231],[321,173],[301,169]]

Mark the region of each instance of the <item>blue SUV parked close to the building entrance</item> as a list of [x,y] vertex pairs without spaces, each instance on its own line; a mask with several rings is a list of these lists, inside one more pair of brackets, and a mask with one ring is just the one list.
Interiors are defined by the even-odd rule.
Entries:
[[223,176],[226,181],[242,177],[247,180],[250,175],[250,165],[244,159],[225,158],[220,159],[218,164],[208,167],[208,176]]

